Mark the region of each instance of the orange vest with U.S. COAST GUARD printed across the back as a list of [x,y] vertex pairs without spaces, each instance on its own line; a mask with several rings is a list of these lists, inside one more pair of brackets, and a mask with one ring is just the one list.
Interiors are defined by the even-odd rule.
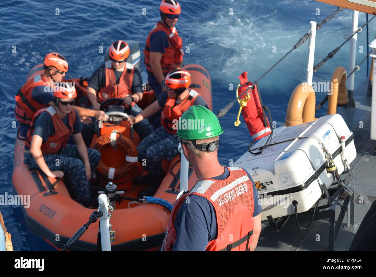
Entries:
[[253,234],[253,185],[246,171],[227,167],[230,175],[224,180],[201,179],[191,191],[183,193],[174,203],[162,249],[172,251],[177,231],[175,221],[183,202],[192,194],[205,197],[213,205],[218,235],[205,251],[249,251]]

